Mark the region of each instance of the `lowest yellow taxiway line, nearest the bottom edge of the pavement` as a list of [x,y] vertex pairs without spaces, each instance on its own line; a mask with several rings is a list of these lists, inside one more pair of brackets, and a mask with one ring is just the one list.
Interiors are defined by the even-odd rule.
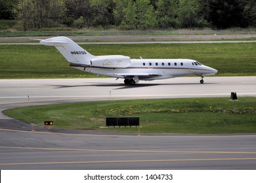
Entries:
[[64,162],[31,162],[31,163],[0,163],[0,165],[47,165],[47,164],[83,164],[83,163],[149,163],[161,161],[232,161],[256,160],[256,158],[203,158],[203,159],[134,159],[134,160],[106,160],[106,161],[64,161]]

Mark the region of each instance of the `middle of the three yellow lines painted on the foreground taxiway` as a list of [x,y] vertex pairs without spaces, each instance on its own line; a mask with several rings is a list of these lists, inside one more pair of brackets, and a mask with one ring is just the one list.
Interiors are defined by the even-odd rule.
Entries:
[[26,150],[59,150],[59,151],[96,151],[96,152],[158,152],[158,153],[188,153],[188,154],[256,154],[256,152],[228,152],[228,151],[182,151],[182,150],[111,150],[111,149],[77,149],[77,148],[36,148],[0,146],[0,148]]

